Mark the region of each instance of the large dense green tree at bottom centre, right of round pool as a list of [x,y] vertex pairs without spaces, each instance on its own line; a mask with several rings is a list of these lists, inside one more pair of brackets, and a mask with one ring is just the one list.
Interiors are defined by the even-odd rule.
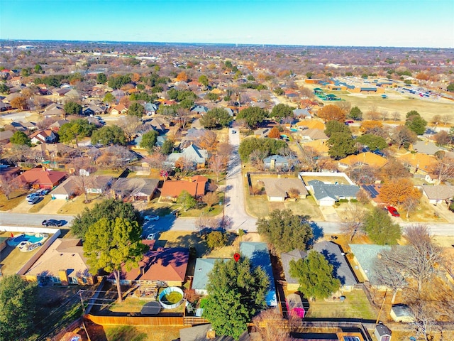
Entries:
[[260,266],[253,269],[245,258],[216,260],[208,280],[203,316],[213,325],[216,335],[238,340],[253,316],[266,307],[270,279]]

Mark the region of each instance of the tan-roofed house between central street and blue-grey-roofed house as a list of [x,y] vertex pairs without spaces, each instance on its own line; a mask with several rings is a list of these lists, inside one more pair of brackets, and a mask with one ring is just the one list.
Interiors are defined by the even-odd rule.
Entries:
[[265,184],[268,201],[284,202],[292,189],[298,190],[300,199],[306,198],[309,194],[299,178],[264,178],[262,181]]

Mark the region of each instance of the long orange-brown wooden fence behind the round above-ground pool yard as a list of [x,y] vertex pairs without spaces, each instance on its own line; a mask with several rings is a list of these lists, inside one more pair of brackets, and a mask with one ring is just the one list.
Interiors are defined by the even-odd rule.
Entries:
[[96,323],[96,325],[176,325],[183,326],[183,316],[96,316],[87,314],[84,318]]

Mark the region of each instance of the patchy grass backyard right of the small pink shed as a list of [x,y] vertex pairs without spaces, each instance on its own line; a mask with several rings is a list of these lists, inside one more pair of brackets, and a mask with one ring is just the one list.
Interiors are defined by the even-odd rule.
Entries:
[[316,300],[309,302],[307,318],[363,318],[375,320],[377,312],[372,309],[362,290],[344,293],[345,301],[328,302]]

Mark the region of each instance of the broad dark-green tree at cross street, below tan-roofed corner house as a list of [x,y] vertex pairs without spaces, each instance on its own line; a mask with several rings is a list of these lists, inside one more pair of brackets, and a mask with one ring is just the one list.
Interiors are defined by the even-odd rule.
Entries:
[[314,237],[309,215],[294,215],[291,210],[274,210],[268,219],[260,218],[257,231],[277,252],[306,250]]

